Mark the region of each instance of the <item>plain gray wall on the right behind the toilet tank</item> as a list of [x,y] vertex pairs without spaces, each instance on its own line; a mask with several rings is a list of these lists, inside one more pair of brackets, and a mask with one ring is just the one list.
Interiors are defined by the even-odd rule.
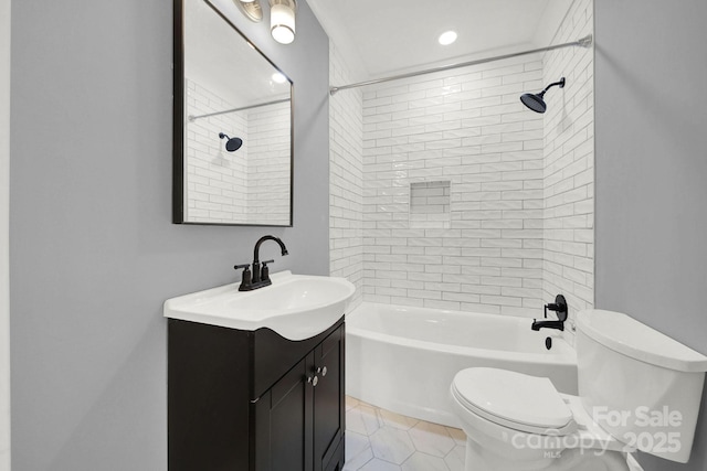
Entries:
[[[597,307],[707,354],[707,2],[595,1]],[[707,469],[703,396],[690,462]]]

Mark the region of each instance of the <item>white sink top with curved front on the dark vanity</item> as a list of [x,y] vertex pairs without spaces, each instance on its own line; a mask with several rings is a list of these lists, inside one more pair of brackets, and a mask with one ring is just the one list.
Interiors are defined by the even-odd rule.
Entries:
[[254,331],[268,328],[289,340],[324,332],[349,304],[356,288],[344,278],[271,275],[273,283],[253,291],[225,285],[165,301],[165,317]]

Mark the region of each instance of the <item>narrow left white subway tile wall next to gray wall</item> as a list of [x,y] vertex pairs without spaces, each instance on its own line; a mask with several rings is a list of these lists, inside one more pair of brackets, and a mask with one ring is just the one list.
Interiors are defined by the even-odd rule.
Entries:
[[[348,84],[350,75],[329,42],[329,82]],[[363,281],[363,111],[361,92],[329,99],[329,271],[356,286],[351,309],[362,300]]]

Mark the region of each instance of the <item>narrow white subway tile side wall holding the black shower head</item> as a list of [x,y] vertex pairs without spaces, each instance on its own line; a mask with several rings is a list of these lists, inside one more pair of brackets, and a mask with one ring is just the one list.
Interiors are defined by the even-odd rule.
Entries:
[[[576,0],[552,43],[592,32],[592,0]],[[546,95],[542,289],[545,299],[564,295],[570,319],[594,306],[593,55],[592,47],[572,47],[544,57],[544,82],[563,76],[567,85]]]

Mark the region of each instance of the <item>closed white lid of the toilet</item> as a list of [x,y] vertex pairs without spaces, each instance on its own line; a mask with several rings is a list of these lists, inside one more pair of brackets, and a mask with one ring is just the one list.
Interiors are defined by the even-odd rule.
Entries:
[[572,411],[547,377],[468,368],[454,376],[453,390],[472,410],[486,413],[481,415],[499,425],[534,433],[574,428],[568,427],[573,424]]

